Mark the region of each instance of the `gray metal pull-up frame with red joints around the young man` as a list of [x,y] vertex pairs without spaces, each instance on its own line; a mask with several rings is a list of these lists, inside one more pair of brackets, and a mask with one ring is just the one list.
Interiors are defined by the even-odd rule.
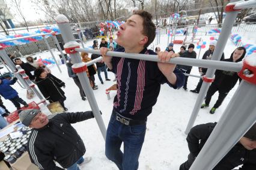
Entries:
[[[212,60],[208,61],[190,58],[171,58],[168,62],[174,64],[209,68],[207,70],[206,76],[204,76],[203,87],[201,88],[202,90],[200,91],[198,100],[195,105],[195,111],[191,115],[186,132],[188,132],[194,124],[195,118],[197,117],[197,112],[200,108],[201,103],[203,102],[203,97],[205,96],[207,88],[209,88],[210,85],[210,83],[206,82],[213,81],[213,75],[216,69],[239,72],[239,76],[243,79],[239,85],[239,88],[237,88],[236,93],[234,94],[230,103],[225,109],[224,114],[222,114],[222,117],[220,118],[218,124],[216,125],[203,149],[200,151],[200,154],[198,154],[197,159],[190,167],[190,169],[192,170],[213,169],[215,165],[222,159],[222,157],[227,154],[227,152],[237,143],[237,141],[239,141],[239,139],[256,121],[256,64],[252,65],[253,62],[251,62],[254,61],[255,63],[256,58],[247,57],[245,58],[245,61],[243,61],[243,64],[236,62],[217,61],[221,58],[222,52],[224,51],[225,44],[227,43],[237,13],[248,4],[248,2],[246,3],[246,5],[243,4],[243,1],[238,3],[239,7],[236,7],[236,2],[237,0],[231,0],[231,3],[228,4],[226,7],[227,16],[224,22],[224,26],[222,28],[221,35],[219,36],[215,52],[213,53]],[[256,5],[255,2],[250,3],[250,5],[252,4]],[[66,17],[65,19],[67,20]],[[56,20],[58,22],[58,19]],[[90,87],[90,83],[88,82],[88,78],[84,72],[86,70],[86,67],[85,64],[81,63],[81,58],[79,58],[78,53],[88,52],[100,54],[100,51],[81,49],[79,47],[79,44],[74,42],[72,31],[69,26],[69,20],[65,22],[61,20],[61,22],[58,23],[58,26],[61,30],[62,35],[64,35],[63,39],[67,44],[65,50],[67,53],[70,53],[76,63],[74,64],[75,66],[73,66],[73,70],[78,74],[79,80],[81,80],[82,87],[88,96],[88,101],[91,105],[91,108],[93,109],[93,111],[97,111],[94,112],[96,113],[96,120],[97,118],[100,118],[100,121],[102,121],[93,92],[91,88],[87,88]],[[107,52],[106,55],[160,62],[156,55],[110,51]],[[251,59],[251,61],[249,59]],[[239,126],[237,126],[237,124],[239,124]],[[99,124],[100,130],[102,130],[101,128],[103,125],[103,122],[102,124]],[[103,133],[103,136],[104,135],[105,133]]]

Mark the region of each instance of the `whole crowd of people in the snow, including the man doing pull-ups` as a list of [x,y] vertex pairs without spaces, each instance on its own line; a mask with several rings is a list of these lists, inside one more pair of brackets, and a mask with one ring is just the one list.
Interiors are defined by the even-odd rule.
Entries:
[[[98,89],[94,77],[96,73],[102,84],[104,83],[100,75],[102,71],[105,73],[106,81],[110,80],[108,71],[117,77],[117,95],[114,98],[106,132],[105,154],[120,170],[136,170],[139,167],[138,159],[144,144],[147,117],[157,102],[161,85],[166,83],[170,88],[183,87],[187,91],[188,76],[185,76],[184,73],[189,74],[192,67],[165,62],[174,57],[197,58],[194,44],[189,44],[187,50],[186,46],[181,46],[178,53],[174,52],[173,43],[169,43],[164,52],[161,52],[160,47],[156,47],[155,52],[148,49],[147,47],[153,42],[155,36],[156,27],[152,22],[152,15],[144,10],[136,10],[123,25],[120,25],[115,41],[113,38],[109,38],[109,42],[107,42],[105,38],[102,38],[100,45],[97,40],[93,41],[93,49],[98,50],[100,47],[103,59],[96,63],[96,67],[94,64],[88,66],[87,76],[90,79],[91,88]],[[209,50],[204,53],[203,59],[212,59],[215,46],[216,41],[210,41]],[[107,56],[106,52],[109,50],[157,55],[161,62]],[[229,59],[225,59],[223,53],[221,60],[239,62],[245,57],[245,53],[244,47],[237,47]],[[88,53],[81,53],[83,62],[99,57],[100,55],[93,54],[90,58]],[[46,100],[50,103],[59,102],[67,111],[68,109],[64,105],[66,96],[62,90],[66,87],[66,83],[53,76],[49,68],[38,65],[31,56],[26,60],[27,62],[23,62],[16,58],[14,62],[25,70],[29,79],[35,82]],[[69,77],[73,78],[79,88],[81,99],[87,100],[81,82],[72,70],[71,60],[67,64],[67,69]],[[199,68],[201,76],[204,76],[206,71],[207,68]],[[219,99],[210,110],[210,114],[214,114],[239,79],[234,71],[217,70],[215,80],[207,91],[206,101],[201,108],[208,107],[213,94],[219,91]],[[11,100],[17,109],[20,109],[20,103],[25,107],[28,104],[20,99],[17,92],[10,87],[16,80],[16,78],[0,80],[0,94],[5,99]],[[203,80],[200,79],[197,88],[190,91],[199,93],[202,83]],[[2,90],[4,88],[6,90]],[[1,100],[0,106],[3,106]],[[9,112],[7,108],[2,108],[5,109],[5,112]],[[82,164],[91,160],[91,157],[83,157],[86,151],[84,142],[70,124],[94,118],[92,111],[66,112],[47,117],[37,109],[25,109],[19,111],[19,117],[25,126],[33,129],[28,140],[28,153],[31,162],[39,169],[79,170],[79,166],[81,167]],[[190,168],[215,126],[216,123],[207,123],[195,126],[190,130],[187,135],[190,154],[187,161],[180,165],[180,170]],[[121,151],[122,144],[123,151]],[[55,162],[58,162],[62,168],[56,166]],[[228,170],[239,165],[243,165],[242,169],[245,170],[256,168],[256,124],[231,148],[214,169]]]

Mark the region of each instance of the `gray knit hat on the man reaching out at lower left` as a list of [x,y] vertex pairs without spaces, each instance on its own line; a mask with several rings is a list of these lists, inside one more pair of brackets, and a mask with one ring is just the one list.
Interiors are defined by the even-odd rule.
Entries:
[[33,120],[33,118],[40,113],[41,111],[39,111],[38,109],[26,109],[23,110],[21,112],[19,112],[19,117],[20,117],[20,121],[22,122],[22,124],[24,124],[25,126],[29,126],[29,124],[31,123],[31,121]]

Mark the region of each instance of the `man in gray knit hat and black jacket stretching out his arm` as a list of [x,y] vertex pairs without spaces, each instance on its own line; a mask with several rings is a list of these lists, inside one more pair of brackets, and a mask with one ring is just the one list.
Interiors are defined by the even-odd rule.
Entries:
[[39,169],[78,170],[78,165],[91,160],[91,157],[83,158],[84,142],[71,124],[94,118],[92,111],[47,116],[40,110],[26,109],[19,111],[19,118],[22,124],[32,128],[28,154]]

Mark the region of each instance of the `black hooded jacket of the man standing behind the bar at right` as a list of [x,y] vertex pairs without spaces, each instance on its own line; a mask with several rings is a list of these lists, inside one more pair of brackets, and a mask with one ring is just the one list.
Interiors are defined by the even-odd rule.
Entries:
[[[231,53],[230,58],[224,59],[223,61],[233,62],[233,53]],[[237,59],[236,62],[242,61],[242,59],[245,57],[245,53],[246,49],[243,48],[243,55]],[[228,92],[236,85],[237,80],[241,81],[240,77],[234,71],[216,70],[213,84],[215,84],[220,90]]]

